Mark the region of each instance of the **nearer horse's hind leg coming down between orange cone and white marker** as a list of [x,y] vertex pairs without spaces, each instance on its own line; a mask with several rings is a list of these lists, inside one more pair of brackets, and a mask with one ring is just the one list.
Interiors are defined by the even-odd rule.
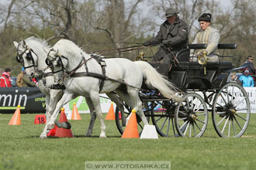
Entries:
[[133,100],[133,106],[134,106],[133,109],[136,110],[136,114],[140,116],[144,125],[147,125],[148,124],[147,118],[145,117],[144,111],[142,110],[142,102],[140,100],[138,91],[134,90],[133,87],[127,87],[127,91],[129,93],[131,100]]

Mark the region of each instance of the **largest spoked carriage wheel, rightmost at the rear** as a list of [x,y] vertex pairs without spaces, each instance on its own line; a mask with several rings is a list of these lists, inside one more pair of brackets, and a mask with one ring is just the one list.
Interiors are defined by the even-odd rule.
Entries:
[[225,84],[213,100],[213,126],[220,137],[239,138],[250,120],[250,100],[238,83]]

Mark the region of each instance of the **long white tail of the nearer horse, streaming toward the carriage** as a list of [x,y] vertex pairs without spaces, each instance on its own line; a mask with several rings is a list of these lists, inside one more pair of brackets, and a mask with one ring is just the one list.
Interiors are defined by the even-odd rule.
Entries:
[[169,82],[165,76],[158,73],[153,66],[144,61],[136,61],[135,63],[137,66],[140,66],[147,87],[156,88],[168,99],[174,99],[176,101],[182,100],[182,97],[175,94],[178,92],[178,88],[175,87],[173,83]]

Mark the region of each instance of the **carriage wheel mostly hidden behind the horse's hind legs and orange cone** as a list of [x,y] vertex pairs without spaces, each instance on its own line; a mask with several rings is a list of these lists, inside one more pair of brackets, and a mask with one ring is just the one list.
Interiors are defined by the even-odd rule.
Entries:
[[[123,106],[125,108],[123,116],[126,119],[126,117],[128,117],[130,115],[130,113],[132,113],[132,109],[127,104],[125,104],[125,103],[123,104]],[[143,105],[143,107],[144,107],[144,105]],[[146,110],[147,110],[147,108],[146,108]],[[144,111],[144,114],[146,114],[145,111]],[[141,134],[141,132],[142,132],[142,130],[144,128],[144,124],[143,124],[143,122],[141,121],[141,119],[140,119],[140,117],[138,115],[136,115],[136,117],[137,117],[138,131]],[[122,114],[119,112],[119,108],[118,107],[116,107],[115,118],[116,118],[116,120],[115,120],[116,121],[116,127],[117,127],[119,133],[123,134],[123,131],[126,128],[126,125],[122,124]],[[146,118],[147,118],[147,121],[149,122],[150,121],[150,117],[146,117]]]

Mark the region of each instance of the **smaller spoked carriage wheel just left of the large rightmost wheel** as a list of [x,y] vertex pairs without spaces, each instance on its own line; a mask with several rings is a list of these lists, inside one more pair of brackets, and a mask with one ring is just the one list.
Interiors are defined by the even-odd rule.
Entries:
[[198,93],[188,93],[175,108],[175,127],[182,137],[201,137],[206,131],[208,110]]

